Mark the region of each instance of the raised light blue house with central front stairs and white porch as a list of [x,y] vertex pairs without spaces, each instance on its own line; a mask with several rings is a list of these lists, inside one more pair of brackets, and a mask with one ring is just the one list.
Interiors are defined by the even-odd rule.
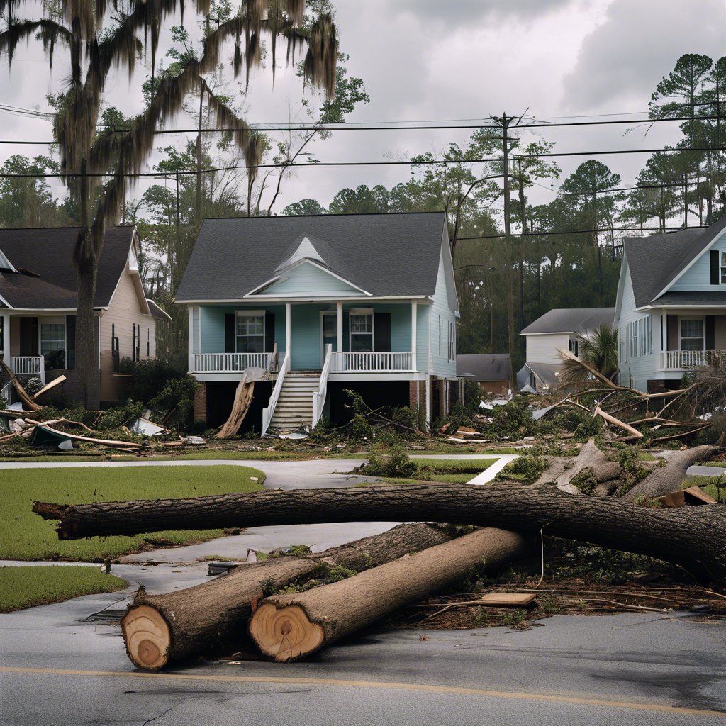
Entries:
[[195,417],[209,425],[250,367],[269,372],[245,422],[263,433],[346,420],[346,388],[427,422],[456,395],[443,212],[207,219],[176,297],[202,384]]

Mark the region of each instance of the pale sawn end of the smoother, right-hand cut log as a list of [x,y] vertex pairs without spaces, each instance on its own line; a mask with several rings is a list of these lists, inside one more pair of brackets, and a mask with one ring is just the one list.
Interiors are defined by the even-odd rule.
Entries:
[[299,605],[263,603],[250,620],[250,635],[266,656],[285,662],[317,650],[325,634]]

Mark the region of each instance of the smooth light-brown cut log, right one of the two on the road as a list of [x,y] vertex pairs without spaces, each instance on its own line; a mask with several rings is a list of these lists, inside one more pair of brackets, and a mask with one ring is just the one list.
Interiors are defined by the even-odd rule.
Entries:
[[340,582],[268,597],[253,614],[249,632],[276,661],[303,658],[464,579],[482,563],[496,567],[527,549],[518,534],[480,529]]

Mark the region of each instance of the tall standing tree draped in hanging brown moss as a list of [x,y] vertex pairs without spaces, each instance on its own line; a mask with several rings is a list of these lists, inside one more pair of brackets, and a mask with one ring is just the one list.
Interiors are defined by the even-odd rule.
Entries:
[[[189,4],[189,3],[187,3]],[[271,38],[272,68],[278,38],[287,39],[287,57],[295,60],[298,46],[307,46],[303,64],[306,81],[330,97],[335,88],[338,56],[337,30],[329,12],[303,25],[306,0],[240,0],[237,12],[211,20],[197,55],[189,54],[177,64],[174,74],[155,78],[155,61],[162,24],[184,17],[184,0],[62,0],[44,3],[43,17],[20,19],[17,8],[36,9],[33,0],[0,0],[0,14],[7,28],[0,33],[0,55],[9,64],[20,41],[36,38],[43,44],[52,69],[58,46],[68,49],[70,78],[56,97],[54,136],[60,150],[62,181],[78,205],[81,232],[74,250],[78,310],[76,317],[76,367],[83,386],[86,407],[99,404],[98,343],[94,325],[94,296],[98,260],[105,230],[118,221],[129,175],[142,170],[153,150],[155,131],[176,115],[184,97],[204,88],[206,73],[216,68],[226,41],[234,44],[235,75],[260,62],[261,37]],[[197,14],[208,17],[210,0],[195,0]],[[150,102],[131,122],[127,131],[97,131],[107,80],[112,71],[134,71],[139,52],[150,54],[154,87]],[[219,126],[234,129],[234,140],[242,150],[248,174],[260,162],[261,144],[247,124],[208,91],[208,103]],[[133,179],[131,179],[133,181]]]

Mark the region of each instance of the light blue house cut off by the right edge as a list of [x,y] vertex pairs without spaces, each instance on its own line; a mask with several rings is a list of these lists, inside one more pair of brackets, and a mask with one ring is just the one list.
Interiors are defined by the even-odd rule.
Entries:
[[726,356],[726,217],[707,229],[627,237],[616,301],[620,382],[674,390]]

